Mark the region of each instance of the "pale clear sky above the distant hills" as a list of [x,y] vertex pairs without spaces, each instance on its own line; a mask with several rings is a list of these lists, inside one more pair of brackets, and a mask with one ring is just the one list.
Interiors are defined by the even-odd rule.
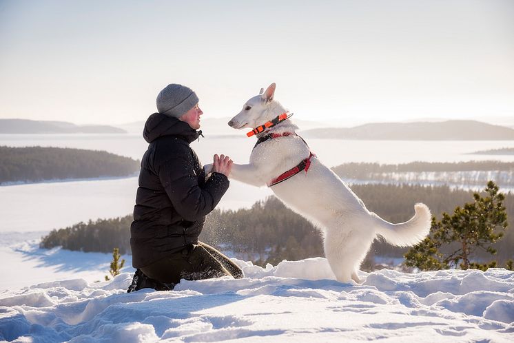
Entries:
[[144,121],[168,83],[229,117],[271,82],[311,121],[514,117],[514,1],[0,0],[0,118]]

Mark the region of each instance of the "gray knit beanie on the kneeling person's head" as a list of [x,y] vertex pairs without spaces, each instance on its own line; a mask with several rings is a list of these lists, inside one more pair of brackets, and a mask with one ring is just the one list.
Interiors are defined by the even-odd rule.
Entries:
[[157,110],[161,114],[180,118],[198,103],[198,96],[183,85],[167,85],[157,96]]

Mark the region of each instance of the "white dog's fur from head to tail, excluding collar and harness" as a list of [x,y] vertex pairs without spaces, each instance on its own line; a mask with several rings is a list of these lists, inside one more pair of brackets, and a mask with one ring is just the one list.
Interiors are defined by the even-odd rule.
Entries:
[[[271,121],[286,109],[274,100],[275,84],[250,98],[229,125],[234,129],[258,127]],[[290,119],[265,132],[296,132]],[[261,134],[265,134],[265,132]],[[259,134],[260,135],[260,134]],[[316,153],[316,152],[313,152]],[[251,152],[248,165],[232,165],[230,178],[257,187],[295,167],[309,156],[309,147],[299,136],[283,136],[260,143]],[[407,247],[421,242],[429,233],[431,214],[426,205],[415,205],[415,215],[400,224],[383,220],[318,158],[311,159],[307,173],[299,174],[271,187],[274,194],[296,213],[320,228],[325,256],[336,278],[342,282],[360,282],[357,271],[377,235],[387,242]]]

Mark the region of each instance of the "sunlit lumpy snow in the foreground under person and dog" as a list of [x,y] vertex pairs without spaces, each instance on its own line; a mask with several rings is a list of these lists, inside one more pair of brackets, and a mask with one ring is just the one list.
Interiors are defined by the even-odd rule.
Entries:
[[175,291],[126,293],[110,282],[45,282],[0,294],[0,340],[15,342],[513,342],[514,272],[360,273],[334,280],[325,258],[245,278],[183,280]]

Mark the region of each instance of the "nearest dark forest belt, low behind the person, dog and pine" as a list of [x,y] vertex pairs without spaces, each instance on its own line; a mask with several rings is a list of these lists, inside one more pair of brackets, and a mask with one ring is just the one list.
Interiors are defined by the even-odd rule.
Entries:
[[[353,185],[351,189],[370,211],[390,222],[404,222],[414,214],[414,204],[424,202],[440,220],[442,212],[452,213],[456,206],[473,202],[471,191],[449,187],[422,187],[408,185]],[[495,257],[501,265],[514,258],[514,195],[506,194],[504,202],[508,214],[508,229],[504,238],[495,244]],[[81,222],[71,227],[52,230],[41,240],[41,247],[79,251],[130,253],[130,223],[132,215],[123,218],[99,219]],[[310,222],[287,209],[280,200],[271,197],[256,202],[251,209],[220,211],[207,216],[200,240],[218,249],[231,251],[237,258],[251,260],[265,266],[283,259],[300,260],[323,256],[320,233]],[[401,258],[407,251],[377,240],[371,253],[378,256]],[[477,251],[474,258],[491,258],[486,251]]]

